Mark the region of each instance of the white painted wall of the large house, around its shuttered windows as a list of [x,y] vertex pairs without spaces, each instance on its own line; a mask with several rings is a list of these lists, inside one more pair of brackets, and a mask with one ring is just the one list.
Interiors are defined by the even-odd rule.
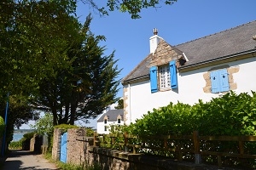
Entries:
[[[237,89],[234,90],[236,94],[241,92],[251,94],[252,90],[256,91],[255,57],[226,64],[240,67],[239,72],[233,74],[234,82],[237,84]],[[128,105],[127,108],[125,108],[125,111],[128,112],[126,115],[127,122],[125,123],[130,124],[131,122],[135,122],[136,119],[142,118],[143,114],[147,114],[148,111],[153,111],[154,108],[157,109],[161,106],[168,105],[170,102],[176,104],[177,101],[180,101],[182,103],[194,105],[199,99],[209,101],[212,98],[218,97],[220,94],[206,94],[203,91],[203,88],[206,86],[203,74],[216,66],[218,65],[202,68],[196,71],[178,72],[178,88],[173,91],[170,90],[151,94],[149,80],[125,85],[124,88],[128,88],[125,92],[125,96],[128,97],[125,101]]]

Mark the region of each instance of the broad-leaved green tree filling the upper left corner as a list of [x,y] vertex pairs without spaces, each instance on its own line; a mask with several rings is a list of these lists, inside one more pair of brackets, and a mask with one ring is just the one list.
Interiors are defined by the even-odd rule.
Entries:
[[67,66],[65,49],[73,31],[69,0],[0,2],[0,93],[31,94],[38,82]]

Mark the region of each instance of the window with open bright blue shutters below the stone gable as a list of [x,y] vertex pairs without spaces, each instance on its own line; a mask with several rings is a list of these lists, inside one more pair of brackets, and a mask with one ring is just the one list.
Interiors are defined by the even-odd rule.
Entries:
[[177,88],[176,61],[172,60],[169,65],[152,66],[150,68],[151,93],[160,90]]

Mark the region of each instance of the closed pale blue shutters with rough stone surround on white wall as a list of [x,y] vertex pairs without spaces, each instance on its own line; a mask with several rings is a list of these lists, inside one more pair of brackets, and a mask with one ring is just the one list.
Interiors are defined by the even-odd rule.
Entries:
[[229,75],[227,69],[211,71],[212,93],[227,92],[230,90]]

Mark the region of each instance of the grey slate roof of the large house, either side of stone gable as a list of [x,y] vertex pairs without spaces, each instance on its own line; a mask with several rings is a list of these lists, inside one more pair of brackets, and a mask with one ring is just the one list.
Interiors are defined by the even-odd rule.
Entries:
[[[214,59],[223,59],[234,54],[255,50],[256,41],[253,40],[254,35],[256,35],[256,20],[207,37],[201,37],[190,42],[173,46],[182,51],[189,59],[185,65],[179,68],[182,69],[188,66],[203,64]],[[152,54],[149,54],[143,59],[143,61],[122,80],[122,83],[140,77],[148,77],[149,69],[147,65],[151,57]]]

